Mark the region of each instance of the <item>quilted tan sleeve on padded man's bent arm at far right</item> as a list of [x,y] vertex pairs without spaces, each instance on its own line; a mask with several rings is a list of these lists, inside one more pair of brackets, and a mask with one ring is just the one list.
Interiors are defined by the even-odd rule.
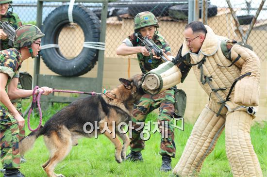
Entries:
[[236,83],[234,102],[244,106],[258,106],[260,96],[260,60],[250,49],[234,45],[231,49],[231,58],[234,60],[238,54],[241,57],[236,62],[236,65],[240,66],[241,75],[248,72],[251,72],[251,75]]

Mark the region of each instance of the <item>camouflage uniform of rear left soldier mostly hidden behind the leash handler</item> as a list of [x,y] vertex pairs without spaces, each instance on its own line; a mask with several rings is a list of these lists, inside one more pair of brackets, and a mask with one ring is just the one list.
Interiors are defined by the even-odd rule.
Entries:
[[[7,14],[5,16],[1,16],[0,21],[1,22],[8,21],[9,24],[15,30],[17,30],[18,27],[22,26],[22,22],[21,22],[20,18],[14,12],[7,12]],[[6,50],[8,48],[11,48],[10,46],[8,46],[8,39],[1,40],[0,50]],[[15,78],[16,77],[18,78],[19,77],[19,74],[17,76],[15,76]],[[17,88],[22,89],[19,80],[18,80],[18,83],[17,83]],[[18,98],[16,100],[12,100],[11,102],[13,103],[13,105],[15,106],[15,108],[17,109],[18,113],[22,116],[21,100],[22,100],[22,98]],[[25,127],[23,127],[22,129],[19,130],[19,140],[21,140],[24,137],[25,137]]]

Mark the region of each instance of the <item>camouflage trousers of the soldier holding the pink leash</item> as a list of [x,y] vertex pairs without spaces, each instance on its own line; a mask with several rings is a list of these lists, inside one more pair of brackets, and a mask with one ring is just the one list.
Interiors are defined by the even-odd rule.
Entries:
[[18,133],[17,120],[0,106],[0,159],[4,169],[20,168]]

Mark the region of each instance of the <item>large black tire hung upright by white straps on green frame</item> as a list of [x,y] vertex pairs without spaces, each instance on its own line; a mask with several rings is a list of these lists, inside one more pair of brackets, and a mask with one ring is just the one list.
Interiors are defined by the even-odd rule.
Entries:
[[[89,9],[75,5],[73,7],[73,21],[83,30],[84,41],[99,42],[100,20]],[[46,35],[42,38],[42,45],[58,44],[61,30],[69,24],[68,5],[54,9],[45,19],[42,32]],[[90,71],[97,62],[98,50],[83,48],[80,54],[71,60],[67,60],[59,48],[47,48],[40,54],[44,63],[55,73],[62,76],[80,76]]]

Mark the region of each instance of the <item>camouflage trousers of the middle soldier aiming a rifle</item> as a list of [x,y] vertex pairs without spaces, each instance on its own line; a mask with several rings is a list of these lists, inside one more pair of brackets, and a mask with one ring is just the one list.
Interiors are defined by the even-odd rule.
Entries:
[[[175,157],[175,143],[174,143],[174,90],[166,90],[160,94],[151,96],[145,94],[141,97],[138,104],[134,105],[132,117],[133,131],[132,138],[130,138],[130,146],[132,151],[141,151],[145,148],[145,142],[142,140],[140,133],[140,125],[136,122],[145,122],[147,115],[153,110],[159,108],[158,113],[158,128],[160,129],[164,124],[167,126],[167,138],[161,136],[160,154]],[[136,129],[139,129],[136,131]],[[162,131],[161,131],[162,134]],[[163,138],[164,137],[164,138]]]

